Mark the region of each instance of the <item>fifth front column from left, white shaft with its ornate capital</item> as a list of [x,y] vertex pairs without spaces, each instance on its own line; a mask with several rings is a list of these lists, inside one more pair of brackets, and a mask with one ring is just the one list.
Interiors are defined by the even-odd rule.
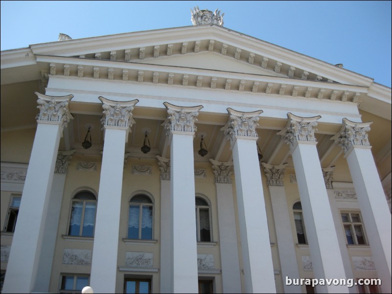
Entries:
[[[287,125],[278,132],[290,145],[303,208],[314,277],[346,278],[339,242],[329,207],[314,137],[316,120],[287,114]],[[317,293],[348,293],[347,286],[316,286]]]

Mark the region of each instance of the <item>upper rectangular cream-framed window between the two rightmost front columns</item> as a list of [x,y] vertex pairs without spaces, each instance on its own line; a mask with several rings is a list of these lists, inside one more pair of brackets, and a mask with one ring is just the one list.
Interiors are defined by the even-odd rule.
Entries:
[[348,245],[365,245],[365,230],[362,223],[362,217],[359,212],[342,212],[341,213],[343,228],[346,234]]

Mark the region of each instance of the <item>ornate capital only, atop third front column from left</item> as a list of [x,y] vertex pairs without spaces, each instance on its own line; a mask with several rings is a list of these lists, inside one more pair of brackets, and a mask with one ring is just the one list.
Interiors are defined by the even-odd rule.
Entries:
[[168,134],[172,131],[196,132],[196,117],[199,115],[198,111],[203,108],[202,105],[184,107],[172,105],[167,102],[163,105],[165,105],[168,111],[168,117],[162,125],[165,126]]

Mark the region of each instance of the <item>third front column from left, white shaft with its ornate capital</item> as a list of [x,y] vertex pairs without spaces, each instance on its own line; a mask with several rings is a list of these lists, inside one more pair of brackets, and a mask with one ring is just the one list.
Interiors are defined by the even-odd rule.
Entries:
[[164,103],[163,123],[171,136],[172,279],[174,293],[198,293],[193,139],[196,116],[203,106]]

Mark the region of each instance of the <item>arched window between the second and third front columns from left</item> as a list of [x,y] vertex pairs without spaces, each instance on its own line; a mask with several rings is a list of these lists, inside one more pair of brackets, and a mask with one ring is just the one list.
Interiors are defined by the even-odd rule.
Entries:
[[138,194],[131,198],[128,239],[152,240],[152,209],[150,197]]

